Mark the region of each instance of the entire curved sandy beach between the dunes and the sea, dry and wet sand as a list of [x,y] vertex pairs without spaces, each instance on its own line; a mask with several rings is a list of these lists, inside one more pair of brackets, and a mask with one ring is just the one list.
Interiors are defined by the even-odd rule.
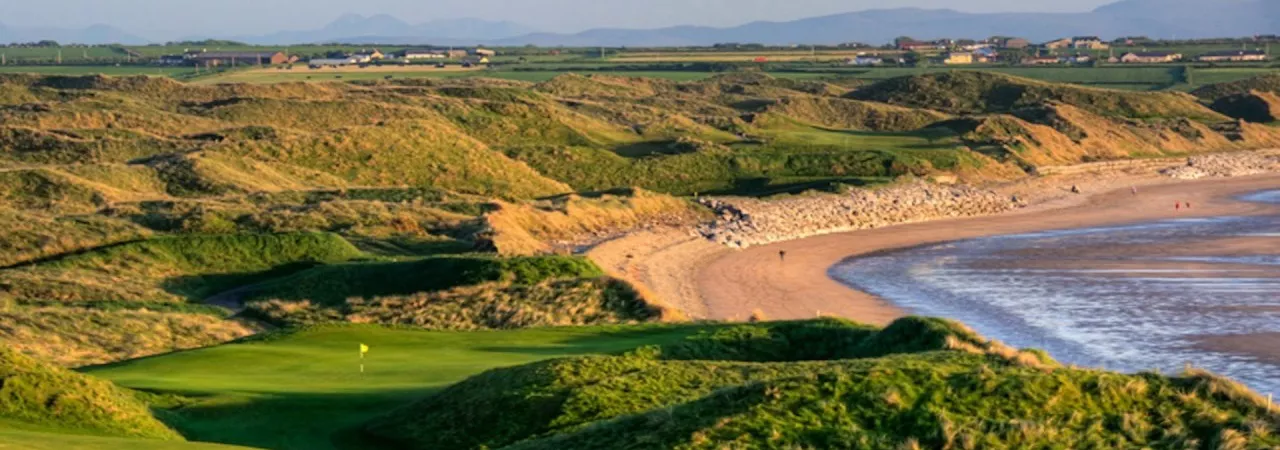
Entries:
[[[1093,193],[1070,194],[1078,184]],[[1138,187],[1133,196],[1129,187]],[[929,220],[731,249],[684,229],[644,231],[593,248],[588,256],[611,275],[639,283],[692,320],[745,321],[844,317],[886,325],[909,312],[832,276],[840,263],[980,237],[1121,225],[1178,217],[1261,215],[1280,206],[1235,197],[1280,188],[1280,174],[1178,180],[1146,174],[1078,174],[997,187],[1029,206],[987,216]],[[1192,202],[1175,211],[1175,202]],[[786,252],[782,261],[778,252]]]

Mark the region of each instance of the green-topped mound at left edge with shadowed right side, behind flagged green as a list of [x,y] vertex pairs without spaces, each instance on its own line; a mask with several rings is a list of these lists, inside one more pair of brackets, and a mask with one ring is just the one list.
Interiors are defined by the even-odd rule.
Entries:
[[198,300],[280,271],[362,254],[326,233],[163,237],[0,271],[0,291],[19,300]]

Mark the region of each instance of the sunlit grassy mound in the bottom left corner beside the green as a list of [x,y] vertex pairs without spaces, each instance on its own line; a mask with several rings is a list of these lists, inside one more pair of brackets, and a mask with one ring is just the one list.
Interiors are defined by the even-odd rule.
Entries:
[[67,432],[182,440],[138,395],[0,348],[0,422]]

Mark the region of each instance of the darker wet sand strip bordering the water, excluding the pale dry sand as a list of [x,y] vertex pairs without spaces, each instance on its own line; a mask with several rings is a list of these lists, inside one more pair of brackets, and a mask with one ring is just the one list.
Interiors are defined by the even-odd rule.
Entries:
[[[721,252],[704,266],[690,267],[696,274],[691,279],[698,283],[699,300],[704,303],[700,309],[705,313],[695,317],[745,320],[759,311],[771,320],[824,314],[884,325],[904,312],[832,279],[831,267],[876,252],[1000,234],[1176,217],[1275,213],[1280,207],[1240,202],[1234,197],[1276,188],[1280,188],[1280,175],[1169,182],[1143,187],[1138,196],[1128,188],[1114,188],[1053,205],[1076,203],[1061,208],[1034,207],[998,216],[900,225]],[[1175,211],[1175,202],[1192,202],[1193,208]],[[1244,240],[1235,245],[1251,245],[1248,238],[1240,239]],[[780,251],[786,252],[785,261],[780,260]],[[680,256],[660,257],[672,261]]]

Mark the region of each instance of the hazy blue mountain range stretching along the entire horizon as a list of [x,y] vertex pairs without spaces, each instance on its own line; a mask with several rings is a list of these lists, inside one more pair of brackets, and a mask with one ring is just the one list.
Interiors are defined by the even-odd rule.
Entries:
[[[596,28],[543,33],[513,22],[442,19],[410,24],[390,15],[343,15],[319,29],[262,36],[201,36],[250,43],[316,42],[434,43],[493,46],[694,46],[718,42],[884,43],[915,38],[1020,36],[1048,41],[1065,36],[1149,36],[1157,38],[1239,37],[1280,32],[1280,0],[1121,0],[1088,13],[961,13],[950,9],[878,9],[791,22],[754,22],[714,28]],[[86,29],[5,28],[0,42],[51,38],[59,42],[142,43],[145,38],[108,27]]]

